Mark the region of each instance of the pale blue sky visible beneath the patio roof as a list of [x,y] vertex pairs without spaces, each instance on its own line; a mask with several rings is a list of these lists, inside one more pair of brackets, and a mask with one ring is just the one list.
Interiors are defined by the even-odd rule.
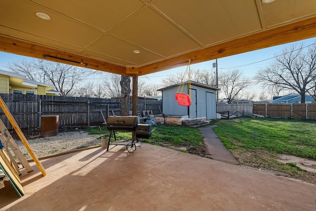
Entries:
[[[287,43],[283,45],[278,45],[274,47],[269,47],[265,49],[260,49],[256,51],[251,51],[247,53],[237,54],[234,56],[224,57],[217,60],[218,64],[218,73],[228,72],[231,70],[241,70],[243,72],[243,77],[252,80],[254,83],[245,91],[254,92],[257,96],[262,91],[260,84],[257,84],[253,80],[257,70],[265,68],[269,66],[270,63],[273,62],[273,58],[276,53],[281,53],[282,49],[287,46],[290,46],[293,43],[301,43],[303,42],[306,45],[313,44],[316,41],[316,37],[305,39],[297,42]],[[8,70],[5,66],[9,62],[18,61],[18,60],[31,60],[30,57],[20,56],[16,54],[10,54],[0,51],[0,70]],[[213,63],[215,60],[210,60],[207,62],[202,62],[198,64],[191,65],[191,70],[206,70],[211,71],[215,74],[216,69],[213,68]],[[171,74],[176,74],[177,72],[185,72],[186,66],[174,68],[170,70],[164,70],[144,76],[139,76],[139,80],[145,81],[145,83],[159,83],[163,78],[167,77]],[[92,78],[87,81],[101,83],[106,78],[106,74],[94,75]],[[219,87],[220,88],[220,87]],[[220,98],[224,98],[225,96],[219,95]],[[269,96],[271,97],[271,96]]]

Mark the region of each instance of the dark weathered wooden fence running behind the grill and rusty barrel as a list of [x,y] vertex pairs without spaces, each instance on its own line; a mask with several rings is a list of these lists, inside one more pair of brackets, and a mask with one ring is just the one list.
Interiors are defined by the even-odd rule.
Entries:
[[[112,110],[120,115],[120,99],[1,93],[0,96],[20,128],[40,127],[41,115],[59,115],[59,125],[102,124],[104,118],[112,115]],[[131,105],[132,102],[130,109]],[[160,114],[159,106],[162,109],[162,103],[158,100],[138,100],[138,112],[152,110],[153,114]],[[1,109],[0,118],[6,128],[12,129]]]

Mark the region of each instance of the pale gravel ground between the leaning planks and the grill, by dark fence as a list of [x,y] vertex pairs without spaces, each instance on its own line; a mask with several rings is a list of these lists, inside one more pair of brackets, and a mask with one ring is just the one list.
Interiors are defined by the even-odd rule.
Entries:
[[[28,140],[35,155],[40,158],[74,149],[101,144],[101,135],[89,135],[84,131],[59,133],[57,136]],[[19,148],[27,159],[31,159],[22,141],[17,140]]]

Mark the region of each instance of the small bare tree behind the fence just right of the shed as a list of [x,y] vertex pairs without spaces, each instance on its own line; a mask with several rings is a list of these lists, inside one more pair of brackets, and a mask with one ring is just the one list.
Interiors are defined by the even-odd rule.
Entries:
[[248,87],[251,82],[248,79],[242,78],[242,72],[240,70],[233,70],[227,73],[221,73],[218,76],[219,86],[222,88],[227,103],[231,104],[234,99],[237,98],[240,91]]

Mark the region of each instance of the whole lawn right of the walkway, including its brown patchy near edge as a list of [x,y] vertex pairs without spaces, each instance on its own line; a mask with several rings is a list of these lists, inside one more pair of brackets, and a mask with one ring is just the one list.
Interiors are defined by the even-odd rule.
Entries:
[[277,154],[316,159],[316,121],[242,117],[214,120],[213,130],[239,164],[283,172],[316,184],[316,174],[294,163],[277,162]]

